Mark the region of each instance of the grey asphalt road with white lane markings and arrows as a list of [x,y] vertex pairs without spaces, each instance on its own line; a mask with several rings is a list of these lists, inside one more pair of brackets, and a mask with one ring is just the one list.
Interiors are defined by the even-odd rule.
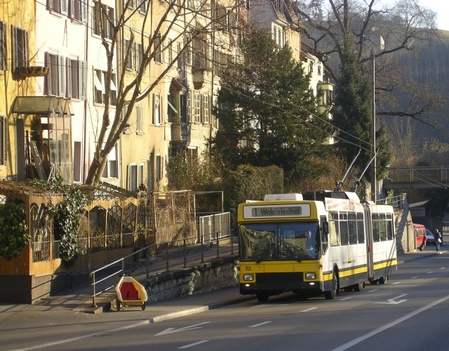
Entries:
[[0,321],[0,350],[448,350],[449,252],[429,246],[389,278],[335,300],[285,293],[158,323],[151,307],[63,321],[24,311]]

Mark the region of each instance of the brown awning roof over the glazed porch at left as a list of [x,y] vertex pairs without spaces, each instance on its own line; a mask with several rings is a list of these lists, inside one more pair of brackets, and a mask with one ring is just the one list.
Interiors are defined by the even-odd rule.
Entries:
[[72,101],[57,96],[17,96],[11,108],[18,114],[69,114],[74,115]]

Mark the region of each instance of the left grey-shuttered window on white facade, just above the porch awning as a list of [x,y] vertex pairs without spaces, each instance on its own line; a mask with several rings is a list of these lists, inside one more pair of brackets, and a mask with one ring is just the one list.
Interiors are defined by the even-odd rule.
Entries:
[[45,53],[45,65],[49,73],[45,79],[44,93],[65,97],[64,57],[55,53]]

